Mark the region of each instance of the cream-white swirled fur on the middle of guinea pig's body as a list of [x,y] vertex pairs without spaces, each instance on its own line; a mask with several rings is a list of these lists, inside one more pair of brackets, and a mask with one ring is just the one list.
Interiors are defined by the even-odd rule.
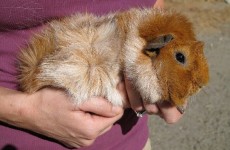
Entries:
[[65,26],[62,22],[51,24],[60,50],[44,59],[39,78],[55,81],[77,104],[92,96],[104,96],[114,105],[122,105],[123,97],[116,89],[121,43],[115,22],[112,18],[87,15],[77,18],[82,21]]

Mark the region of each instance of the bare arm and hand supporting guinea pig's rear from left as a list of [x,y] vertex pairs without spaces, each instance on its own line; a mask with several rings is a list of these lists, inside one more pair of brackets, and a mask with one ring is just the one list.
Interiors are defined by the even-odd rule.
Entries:
[[71,147],[91,145],[122,115],[122,108],[100,97],[78,107],[59,90],[47,88],[28,95],[0,87],[0,121]]

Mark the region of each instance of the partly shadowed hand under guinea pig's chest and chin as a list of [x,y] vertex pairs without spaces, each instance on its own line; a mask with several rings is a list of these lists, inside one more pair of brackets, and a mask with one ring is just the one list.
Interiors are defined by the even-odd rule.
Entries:
[[164,101],[155,104],[144,104],[139,93],[133,88],[133,85],[126,78],[124,82],[119,83],[118,89],[126,97],[125,107],[131,107],[139,112],[146,110],[148,114],[159,115],[167,123],[176,123],[182,117],[182,114],[171,103]]

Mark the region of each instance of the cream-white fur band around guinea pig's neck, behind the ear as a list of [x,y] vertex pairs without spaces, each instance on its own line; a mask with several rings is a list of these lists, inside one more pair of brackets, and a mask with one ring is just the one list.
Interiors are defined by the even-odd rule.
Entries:
[[133,80],[137,90],[141,93],[142,99],[150,103],[155,103],[161,98],[161,88],[158,83],[156,71],[152,67],[151,59],[149,63],[137,63],[139,55],[145,46],[145,41],[139,36],[138,25],[146,13],[138,13],[134,19],[136,21],[129,25],[129,32],[125,42],[125,72],[128,72],[128,78]]

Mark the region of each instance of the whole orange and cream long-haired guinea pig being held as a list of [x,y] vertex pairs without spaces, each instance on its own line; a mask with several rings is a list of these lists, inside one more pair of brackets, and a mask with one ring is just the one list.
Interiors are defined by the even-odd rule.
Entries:
[[64,89],[78,105],[92,96],[122,105],[116,87],[125,74],[145,103],[180,107],[208,83],[203,45],[174,11],[75,14],[50,21],[22,49],[19,83],[28,93]]

